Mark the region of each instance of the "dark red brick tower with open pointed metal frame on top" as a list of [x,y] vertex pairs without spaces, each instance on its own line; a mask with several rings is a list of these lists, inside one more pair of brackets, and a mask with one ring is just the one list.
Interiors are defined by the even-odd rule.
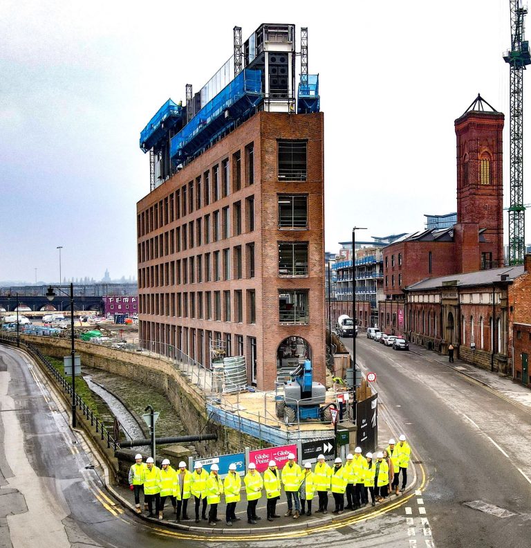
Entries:
[[[462,272],[503,266],[503,122],[503,113],[494,110],[480,95],[455,121],[456,241],[463,239]],[[478,240],[472,237],[472,232],[477,234],[474,225],[480,231]],[[474,244],[479,246],[476,253],[479,250],[480,264],[478,255],[469,253]]]

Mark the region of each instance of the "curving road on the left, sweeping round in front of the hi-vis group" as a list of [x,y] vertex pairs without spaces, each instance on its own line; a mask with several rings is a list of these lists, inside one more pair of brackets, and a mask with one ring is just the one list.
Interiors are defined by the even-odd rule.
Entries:
[[[122,509],[106,494],[103,474],[80,432],[71,430],[57,394],[32,360],[0,345],[1,547],[159,548],[175,545],[176,540],[184,548],[284,548],[301,542],[316,548],[329,547],[330,542],[344,548],[432,546],[421,497],[399,497],[383,510],[377,507],[363,518],[344,520],[339,528],[328,524],[312,532],[263,533],[253,538],[217,531],[194,536],[153,526]],[[285,505],[283,497],[281,512]],[[245,503],[236,511],[243,517]],[[263,500],[258,513],[265,513]],[[287,518],[279,521],[288,523]],[[416,538],[418,544],[412,543]]]

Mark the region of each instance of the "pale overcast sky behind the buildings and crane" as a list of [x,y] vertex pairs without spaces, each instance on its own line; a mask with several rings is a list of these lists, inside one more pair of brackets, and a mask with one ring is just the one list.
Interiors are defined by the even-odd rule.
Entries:
[[135,276],[136,202],[149,192],[140,131],[232,55],[235,25],[247,39],[268,22],[295,24],[297,51],[308,26],[325,117],[326,250],[353,226],[369,239],[456,211],[454,120],[478,93],[506,116],[507,206],[508,0],[3,0],[0,280],[35,282],[35,268],[39,281],[59,280],[57,246],[68,279]]

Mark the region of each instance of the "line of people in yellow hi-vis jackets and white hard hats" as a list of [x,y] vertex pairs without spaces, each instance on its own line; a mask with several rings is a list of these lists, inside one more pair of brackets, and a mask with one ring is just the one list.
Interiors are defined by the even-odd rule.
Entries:
[[[407,468],[411,448],[404,435],[400,435],[398,444],[389,440],[389,446],[373,457],[372,453],[362,455],[360,447],[354,454],[346,456],[346,462],[337,457],[334,465],[325,462],[324,455],[317,457],[317,463],[312,471],[312,464],[307,462],[301,468],[295,462],[295,455],[290,453],[288,461],[280,471],[277,463],[272,460],[263,475],[257,471],[253,462],[248,465],[248,471],[242,477],[236,471],[236,464],[230,464],[225,478],[219,475],[217,464],[210,466],[210,471],[203,469],[201,462],[194,464],[194,472],[187,470],[186,463],[180,462],[178,470],[171,468],[168,459],[162,461],[162,468],[155,466],[152,457],[142,462],[142,455],[135,457],[135,464],[129,470],[129,486],[134,491],[135,509],[141,513],[140,491],[144,491],[144,504],[147,515],[151,518],[164,517],[165,502],[169,498],[179,522],[189,520],[187,514],[188,501],[194,501],[196,523],[207,520],[209,526],[215,527],[221,521],[218,518],[218,504],[225,497],[225,523],[232,526],[240,521],[236,516],[236,504],[241,501],[241,491],[245,488],[247,498],[247,521],[257,524],[261,517],[257,515],[257,504],[265,491],[267,501],[267,520],[280,518],[277,514],[277,502],[282,489],[286,493],[288,510],[284,517],[298,519],[301,515],[312,514],[312,502],[317,493],[319,507],[315,513],[328,513],[328,493],[332,493],[335,501],[333,513],[343,513],[344,510],[355,510],[369,504],[369,493],[372,505],[383,502],[389,496],[389,487],[399,495],[400,473],[402,473],[402,488],[407,484]],[[346,506],[344,498],[346,495]],[[209,505],[207,517],[207,505]],[[201,519],[200,519],[201,511]]]

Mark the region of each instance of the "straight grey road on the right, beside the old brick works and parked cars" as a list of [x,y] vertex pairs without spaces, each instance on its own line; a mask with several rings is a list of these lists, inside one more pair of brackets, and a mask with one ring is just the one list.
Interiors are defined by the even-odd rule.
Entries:
[[380,410],[427,471],[422,502],[435,545],[529,548],[531,409],[414,346],[395,351],[360,334],[356,353],[377,374]]

